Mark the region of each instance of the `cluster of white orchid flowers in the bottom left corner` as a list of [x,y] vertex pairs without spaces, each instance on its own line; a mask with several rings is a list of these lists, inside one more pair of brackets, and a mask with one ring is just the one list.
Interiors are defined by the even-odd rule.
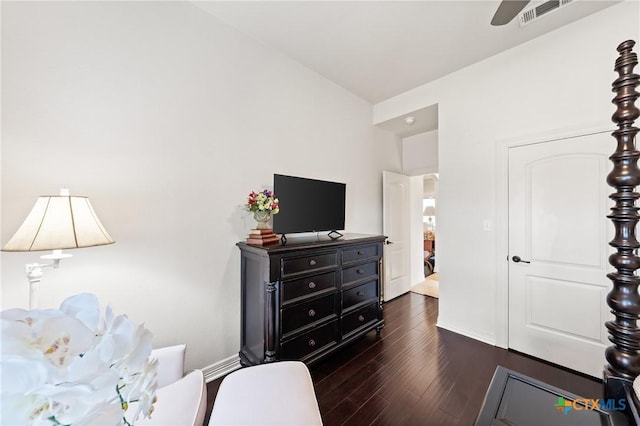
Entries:
[[60,309],[6,310],[0,326],[1,424],[131,425],[153,412],[151,333],[110,307],[101,320],[94,295],[70,297]]

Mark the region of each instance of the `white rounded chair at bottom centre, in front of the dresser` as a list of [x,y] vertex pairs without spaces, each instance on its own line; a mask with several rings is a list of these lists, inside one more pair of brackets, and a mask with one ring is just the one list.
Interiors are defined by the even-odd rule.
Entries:
[[300,361],[241,368],[220,384],[209,426],[319,426],[309,369]]

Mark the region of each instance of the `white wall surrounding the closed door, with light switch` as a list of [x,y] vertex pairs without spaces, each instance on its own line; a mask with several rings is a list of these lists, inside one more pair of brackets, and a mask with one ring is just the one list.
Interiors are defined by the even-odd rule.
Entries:
[[[497,150],[504,141],[611,126],[616,47],[640,41],[624,2],[374,106],[379,123],[438,104],[439,325],[496,341]],[[636,45],[636,52],[638,45]],[[636,70],[637,71],[637,70]],[[612,138],[612,152],[614,150]]]

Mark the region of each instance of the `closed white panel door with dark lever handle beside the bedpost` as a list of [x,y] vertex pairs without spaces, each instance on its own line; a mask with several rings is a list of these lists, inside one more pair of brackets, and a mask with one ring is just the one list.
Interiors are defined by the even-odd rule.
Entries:
[[600,133],[509,150],[509,347],[594,377],[608,345],[614,148]]

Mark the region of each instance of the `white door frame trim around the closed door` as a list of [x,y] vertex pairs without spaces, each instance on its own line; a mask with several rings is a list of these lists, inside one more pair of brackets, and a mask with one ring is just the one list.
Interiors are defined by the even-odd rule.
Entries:
[[[553,129],[539,135],[525,135],[496,142],[496,346],[504,349],[509,348],[509,149],[599,133],[611,133],[615,129],[613,123],[597,124],[592,127]],[[613,153],[616,146],[615,139],[611,137],[611,141],[611,153]]]

